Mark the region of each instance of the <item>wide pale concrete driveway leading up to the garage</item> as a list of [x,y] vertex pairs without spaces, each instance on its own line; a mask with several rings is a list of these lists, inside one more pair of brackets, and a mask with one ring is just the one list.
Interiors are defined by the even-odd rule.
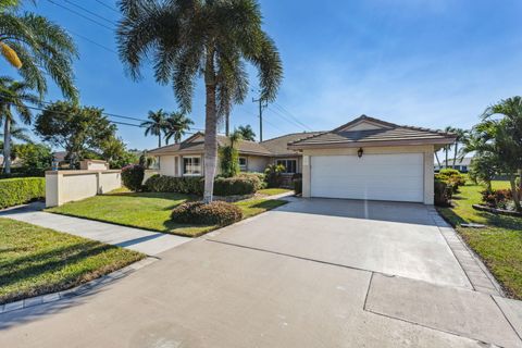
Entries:
[[420,204],[296,200],[85,296],[0,314],[1,347],[522,347]]

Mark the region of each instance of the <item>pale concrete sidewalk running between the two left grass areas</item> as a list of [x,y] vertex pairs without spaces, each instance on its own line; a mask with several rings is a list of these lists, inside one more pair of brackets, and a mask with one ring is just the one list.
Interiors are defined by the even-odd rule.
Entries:
[[191,239],[92,220],[46,213],[41,209],[44,209],[44,204],[36,202],[1,211],[0,217],[14,219],[75,236],[103,241],[140,251],[148,256],[156,256]]

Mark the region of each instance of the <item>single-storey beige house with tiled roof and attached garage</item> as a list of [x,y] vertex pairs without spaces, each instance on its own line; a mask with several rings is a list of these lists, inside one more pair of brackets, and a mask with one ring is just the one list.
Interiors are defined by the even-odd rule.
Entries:
[[[243,171],[284,164],[302,173],[302,196],[423,202],[434,200],[434,151],[455,135],[400,126],[362,115],[330,132],[298,133],[262,142],[240,141]],[[220,136],[220,146],[227,138]],[[204,139],[187,140],[149,153],[160,158],[160,174],[202,175]]]

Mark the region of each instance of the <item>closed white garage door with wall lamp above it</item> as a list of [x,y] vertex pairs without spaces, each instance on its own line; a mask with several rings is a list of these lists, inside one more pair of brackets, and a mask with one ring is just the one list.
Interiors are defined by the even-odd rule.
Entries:
[[314,156],[311,196],[422,202],[422,153]]

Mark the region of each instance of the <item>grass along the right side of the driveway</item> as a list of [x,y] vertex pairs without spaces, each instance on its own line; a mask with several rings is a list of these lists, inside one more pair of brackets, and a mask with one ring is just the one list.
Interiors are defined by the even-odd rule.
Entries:
[[[494,182],[493,188],[508,188],[508,182]],[[522,299],[522,217],[477,211],[480,185],[467,185],[453,197],[452,208],[439,208],[468,245],[484,260],[506,293]],[[464,228],[462,223],[480,223],[486,228]]]

